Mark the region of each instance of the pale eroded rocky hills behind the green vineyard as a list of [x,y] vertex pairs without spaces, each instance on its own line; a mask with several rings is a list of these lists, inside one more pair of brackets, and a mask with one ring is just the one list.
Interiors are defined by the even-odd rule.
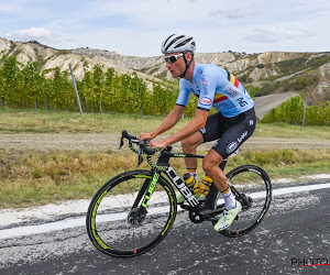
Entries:
[[[105,69],[114,67],[119,73],[135,70],[146,81],[170,80],[162,56],[123,56],[92,48],[55,50],[37,42],[23,43],[0,38],[0,58],[3,55],[14,55],[22,64],[29,61],[40,62],[43,69],[59,67],[68,70],[68,64],[72,64],[77,78],[81,78],[84,74],[84,56],[90,67],[101,64]],[[330,100],[330,52],[196,53],[196,61],[224,67],[237,75],[246,87],[260,88],[258,96],[296,91],[309,94],[309,102]]]

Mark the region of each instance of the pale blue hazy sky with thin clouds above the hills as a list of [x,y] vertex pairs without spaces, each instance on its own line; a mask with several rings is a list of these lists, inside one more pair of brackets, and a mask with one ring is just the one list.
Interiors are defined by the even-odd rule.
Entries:
[[0,0],[0,37],[14,41],[155,56],[172,33],[201,53],[330,51],[330,1]]

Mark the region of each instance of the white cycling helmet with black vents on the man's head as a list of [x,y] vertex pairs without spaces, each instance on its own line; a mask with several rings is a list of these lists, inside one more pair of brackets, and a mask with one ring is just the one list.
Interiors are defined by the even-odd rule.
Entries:
[[162,53],[185,53],[193,52],[196,48],[194,37],[184,34],[172,34],[162,43]]

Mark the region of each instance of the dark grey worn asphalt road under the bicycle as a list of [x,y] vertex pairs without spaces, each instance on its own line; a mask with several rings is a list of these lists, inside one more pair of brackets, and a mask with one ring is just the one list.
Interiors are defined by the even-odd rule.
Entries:
[[162,243],[133,258],[103,255],[84,226],[9,239],[3,230],[19,224],[0,228],[0,274],[330,274],[330,179],[274,190],[320,184],[327,188],[275,195],[262,224],[238,239],[215,232],[208,222],[191,223],[180,212]]

